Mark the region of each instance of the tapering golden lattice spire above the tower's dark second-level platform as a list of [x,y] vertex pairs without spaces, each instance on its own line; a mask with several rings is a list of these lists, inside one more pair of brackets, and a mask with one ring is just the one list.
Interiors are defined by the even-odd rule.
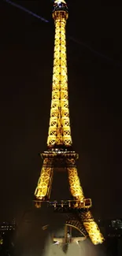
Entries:
[[[62,6],[63,5],[63,6]],[[68,109],[68,76],[66,58],[65,25],[68,18],[67,6],[55,3],[53,17],[55,20],[54,69],[52,100],[50,110],[50,127],[47,145],[72,145]]]

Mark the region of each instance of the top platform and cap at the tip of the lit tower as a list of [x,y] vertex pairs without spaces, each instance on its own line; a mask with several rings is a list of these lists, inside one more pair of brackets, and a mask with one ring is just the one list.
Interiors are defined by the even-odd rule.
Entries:
[[68,19],[68,6],[65,0],[55,0],[54,1],[54,9],[53,9],[53,17],[54,20],[57,20],[59,17],[59,13],[62,13],[62,17]]

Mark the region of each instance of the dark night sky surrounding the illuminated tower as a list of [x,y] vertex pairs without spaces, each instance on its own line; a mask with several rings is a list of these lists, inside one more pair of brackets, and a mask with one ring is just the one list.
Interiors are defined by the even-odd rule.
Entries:
[[[52,3],[16,2],[50,23],[0,3],[0,220],[19,216],[33,198],[50,117]],[[67,39],[70,118],[79,176],[96,217],[122,217],[122,7],[112,2],[104,6],[100,0],[68,3],[67,33],[79,41]]]

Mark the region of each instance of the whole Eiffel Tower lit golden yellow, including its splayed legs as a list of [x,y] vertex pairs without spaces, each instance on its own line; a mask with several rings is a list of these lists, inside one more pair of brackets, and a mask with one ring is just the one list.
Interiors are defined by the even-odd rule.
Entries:
[[[66,224],[75,227],[84,236],[89,236],[95,245],[104,238],[91,213],[91,198],[85,198],[76,169],[78,154],[72,149],[72,136],[68,109],[68,76],[66,59],[65,25],[68,19],[68,6],[65,0],[55,0],[53,9],[55,24],[54,70],[50,125],[47,138],[47,150],[41,154],[43,167],[35,189],[35,206],[43,201],[54,207],[54,211],[67,213]],[[71,198],[69,200],[50,201],[54,172],[68,173]]]

